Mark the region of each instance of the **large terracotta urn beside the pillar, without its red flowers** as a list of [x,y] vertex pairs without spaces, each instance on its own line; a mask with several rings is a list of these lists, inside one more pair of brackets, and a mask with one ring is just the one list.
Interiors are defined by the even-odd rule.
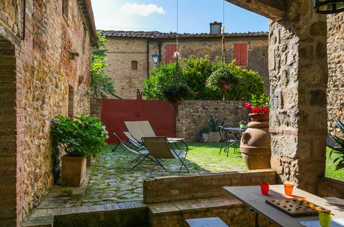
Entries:
[[251,122],[242,134],[241,156],[248,169],[270,169],[269,114],[248,114]]

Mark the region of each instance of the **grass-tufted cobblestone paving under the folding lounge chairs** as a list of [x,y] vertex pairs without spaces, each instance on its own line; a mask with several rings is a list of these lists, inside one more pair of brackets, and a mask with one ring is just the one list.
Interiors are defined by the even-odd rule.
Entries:
[[[152,162],[147,160],[131,170],[128,163],[135,157],[134,153],[121,147],[114,152],[108,149],[100,154],[93,165],[82,206],[142,201],[143,180],[149,179]],[[190,173],[209,172],[189,160],[186,160],[185,164]],[[158,166],[153,171],[153,176],[177,175],[180,162],[166,160],[164,166],[169,172]],[[186,173],[186,171],[182,171],[181,174]]]

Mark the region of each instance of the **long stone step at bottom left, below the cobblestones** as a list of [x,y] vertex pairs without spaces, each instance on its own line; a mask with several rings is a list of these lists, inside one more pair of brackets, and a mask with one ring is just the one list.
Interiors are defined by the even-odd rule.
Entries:
[[148,226],[147,206],[140,202],[42,209],[34,215],[36,216],[29,217],[23,226]]

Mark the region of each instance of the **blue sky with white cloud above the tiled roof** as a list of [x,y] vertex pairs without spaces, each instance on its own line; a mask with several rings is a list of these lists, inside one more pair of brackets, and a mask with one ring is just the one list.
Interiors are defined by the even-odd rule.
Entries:
[[[222,0],[179,0],[180,33],[222,22]],[[176,31],[176,0],[92,0],[97,29]],[[226,32],[267,32],[268,19],[225,1]]]

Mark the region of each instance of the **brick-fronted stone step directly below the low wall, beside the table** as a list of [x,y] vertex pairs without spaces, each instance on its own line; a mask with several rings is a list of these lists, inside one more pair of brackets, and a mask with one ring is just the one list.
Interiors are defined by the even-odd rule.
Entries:
[[[255,226],[254,213],[233,197],[208,197],[147,204],[149,226],[187,227],[186,219],[219,217],[228,226]],[[259,224],[273,226],[259,216]]]

